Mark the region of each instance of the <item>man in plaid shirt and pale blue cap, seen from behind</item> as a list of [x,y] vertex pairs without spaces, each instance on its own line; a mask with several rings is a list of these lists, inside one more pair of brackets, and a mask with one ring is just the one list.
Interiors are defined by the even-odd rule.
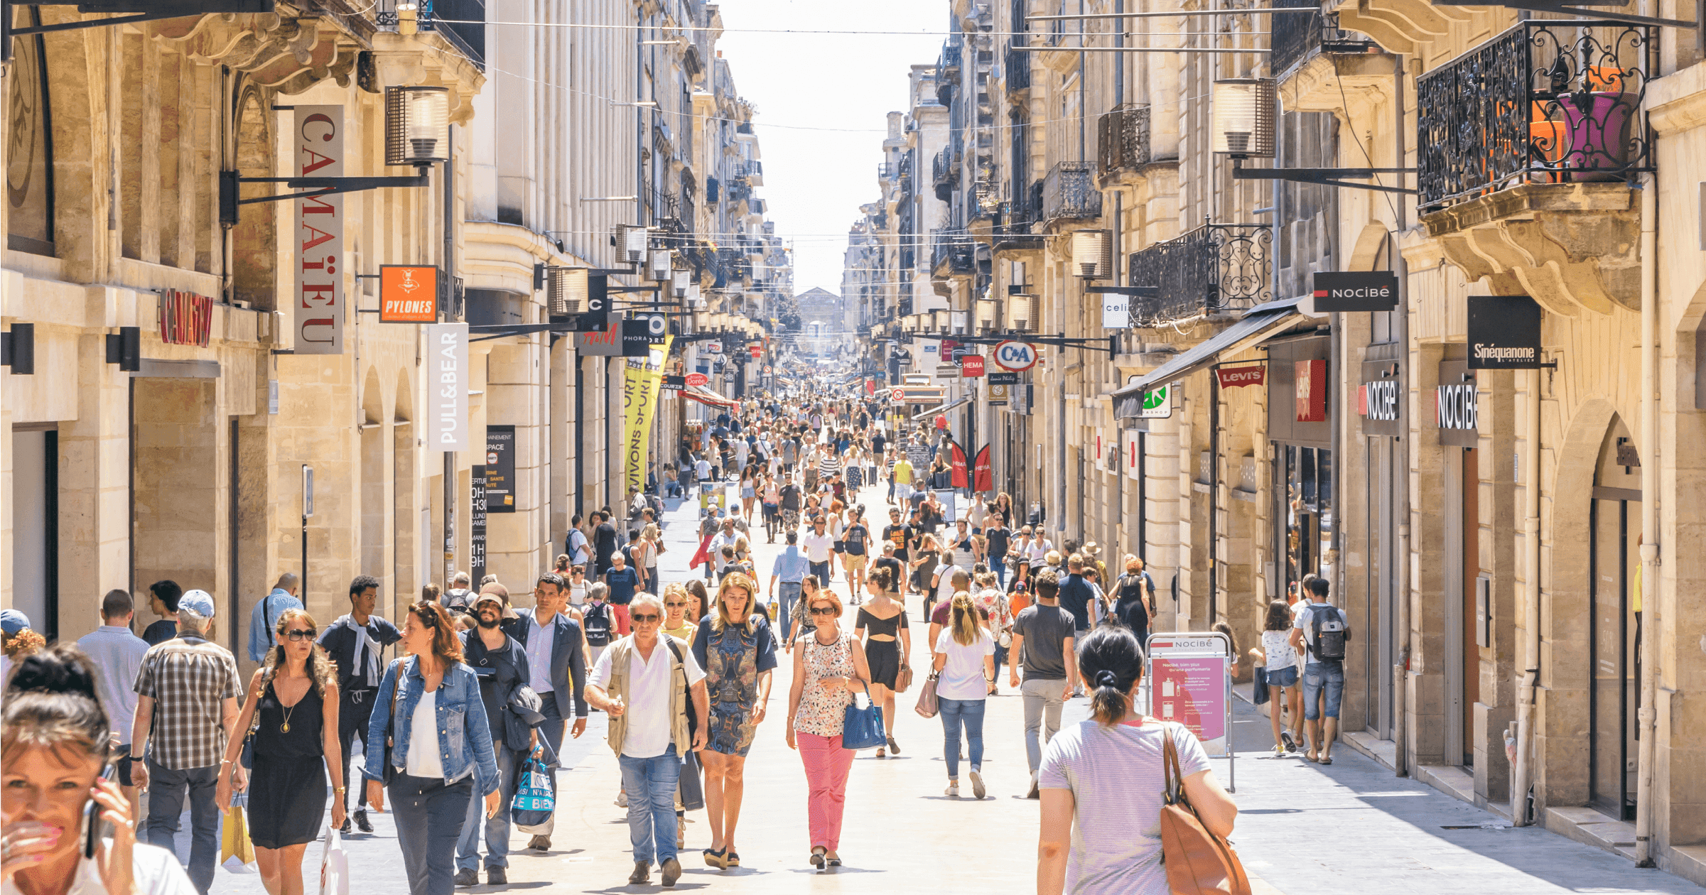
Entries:
[[[220,755],[237,725],[242,696],[237,660],[208,639],[212,629],[213,597],[205,590],[179,597],[177,636],[148,650],[136,672],[130,738],[131,779],[148,791],[145,842],[172,849],[189,794],[189,881],[201,895],[213,885],[218,859],[220,811],[213,793],[227,772]],[[237,789],[247,786],[241,765],[235,774]]]

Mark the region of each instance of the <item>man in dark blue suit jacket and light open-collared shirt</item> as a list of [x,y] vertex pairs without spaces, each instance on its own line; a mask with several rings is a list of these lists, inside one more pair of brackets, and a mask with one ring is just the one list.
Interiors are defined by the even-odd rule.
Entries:
[[[553,754],[563,747],[563,728],[570,719],[575,721],[573,736],[578,738],[587,731],[587,655],[582,650],[585,638],[580,624],[563,614],[565,609],[568,609],[568,585],[561,575],[548,571],[534,583],[534,609],[515,610],[515,626],[510,629],[527,650],[527,677],[543,702],[539,713],[544,714],[544,723],[539,725],[539,733],[551,743]],[[554,784],[553,777],[553,789]],[[554,822],[556,817],[546,822],[546,832],[536,834],[527,847],[549,851]]]

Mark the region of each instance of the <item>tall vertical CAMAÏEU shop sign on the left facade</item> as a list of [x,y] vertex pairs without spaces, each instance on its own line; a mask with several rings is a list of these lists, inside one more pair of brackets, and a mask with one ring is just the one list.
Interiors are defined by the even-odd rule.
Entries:
[[[297,177],[343,176],[343,106],[297,106]],[[297,199],[297,355],[343,355],[343,194]]]

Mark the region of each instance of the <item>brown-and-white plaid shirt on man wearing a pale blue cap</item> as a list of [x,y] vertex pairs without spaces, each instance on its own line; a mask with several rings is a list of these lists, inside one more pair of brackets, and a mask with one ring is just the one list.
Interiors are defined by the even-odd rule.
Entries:
[[154,699],[154,762],[212,767],[225,754],[223,702],[242,696],[237,660],[215,643],[174,638],[142,656],[136,696]]

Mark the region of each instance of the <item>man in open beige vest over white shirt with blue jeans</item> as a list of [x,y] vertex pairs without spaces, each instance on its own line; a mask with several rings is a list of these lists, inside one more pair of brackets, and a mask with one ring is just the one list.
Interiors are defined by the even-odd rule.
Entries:
[[652,881],[652,859],[664,871],[664,886],[681,878],[676,852],[676,786],[686,752],[705,748],[710,725],[688,733],[688,699],[693,713],[710,718],[705,672],[684,643],[659,634],[664,603],[652,593],[635,595],[628,607],[633,634],[599,656],[587,682],[587,701],[609,714],[609,743],[623,771],[628,796],[628,840],[635,869],[630,885]]

